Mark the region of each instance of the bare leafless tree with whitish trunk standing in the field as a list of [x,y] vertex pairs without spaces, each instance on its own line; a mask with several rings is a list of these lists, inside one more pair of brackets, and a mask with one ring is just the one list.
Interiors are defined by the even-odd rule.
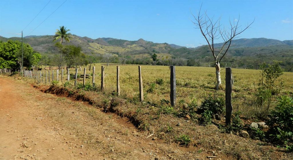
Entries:
[[[220,62],[222,58],[226,55],[227,51],[231,47],[231,42],[233,39],[237,38],[239,34],[244,32],[246,29],[248,29],[254,20],[247,24],[245,27],[241,27],[239,25],[239,19],[229,20],[229,27],[225,28],[221,23],[220,20],[221,18],[218,18],[217,20],[214,20],[214,18],[210,18],[207,13],[201,13],[201,8],[200,11],[197,13],[197,15],[193,15],[194,25],[196,26],[195,28],[200,29],[201,34],[207,41],[207,44],[209,45],[209,49],[212,51],[212,55],[214,57],[214,65],[216,68],[216,79],[217,79],[217,89],[219,89],[219,86],[222,84],[221,82],[221,74],[220,74]],[[214,48],[214,42],[217,41],[218,39],[222,39],[222,47],[220,48]]]

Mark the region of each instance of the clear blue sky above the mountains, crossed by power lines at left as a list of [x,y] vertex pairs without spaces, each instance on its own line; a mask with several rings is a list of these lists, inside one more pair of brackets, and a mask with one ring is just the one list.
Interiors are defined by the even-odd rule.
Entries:
[[[23,30],[48,3],[42,12],[23,30],[28,35],[53,35],[59,26],[71,34],[93,39],[148,41],[196,47],[206,44],[191,20],[191,11],[202,9],[214,18],[221,17],[229,25],[240,15],[240,24],[251,28],[240,38],[293,39],[293,0],[289,1],[79,1],[67,0],[15,1],[0,0],[0,35],[21,36]],[[47,18],[55,11],[49,18]],[[47,18],[47,20],[45,20]],[[45,21],[44,21],[45,20]],[[41,25],[40,23],[44,21]],[[40,25],[39,27],[37,27]],[[37,27],[37,28],[36,28]],[[36,28],[36,29],[35,29]],[[34,30],[35,29],[35,30]],[[33,31],[34,30],[34,31]],[[33,31],[33,32],[32,32]],[[219,41],[220,42],[220,41]]]

